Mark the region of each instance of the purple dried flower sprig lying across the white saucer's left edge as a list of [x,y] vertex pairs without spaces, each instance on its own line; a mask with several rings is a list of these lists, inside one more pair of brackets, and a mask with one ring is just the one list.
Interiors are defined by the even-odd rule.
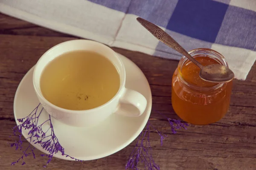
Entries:
[[[47,164],[49,164],[49,162],[52,160],[53,155],[58,152],[61,152],[62,156],[70,157],[76,161],[81,161],[65,154],[64,148],[61,146],[61,144],[58,142],[58,138],[55,136],[51,116],[49,116],[49,119],[43,123],[38,124],[39,116],[43,111],[43,108],[41,108],[40,111],[38,110],[39,106],[40,104],[28,116],[22,119],[17,119],[17,121],[21,122],[21,124],[13,128],[13,136],[17,136],[19,140],[16,140],[14,143],[10,143],[10,146],[15,146],[16,150],[20,149],[23,155],[17,161],[12,162],[12,165],[16,164],[20,160],[22,160],[22,165],[26,164],[24,157],[29,156],[31,153],[35,158],[35,147],[32,146],[32,142],[34,142],[34,144],[40,144],[41,147],[43,147],[49,153],[47,155],[41,154],[41,156],[47,156],[49,158]],[[42,127],[47,124],[49,124],[49,128],[44,132]],[[22,140],[22,130],[29,130],[28,135],[30,136],[26,138],[26,140],[29,141],[29,146],[26,148],[26,150],[22,150],[22,143],[25,141],[24,139]],[[47,164],[44,167],[46,167]]]

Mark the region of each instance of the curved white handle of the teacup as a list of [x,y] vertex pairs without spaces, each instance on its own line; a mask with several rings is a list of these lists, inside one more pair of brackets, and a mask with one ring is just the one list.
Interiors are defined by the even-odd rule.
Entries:
[[137,117],[144,113],[146,107],[147,99],[142,94],[125,88],[115,113],[123,116]]

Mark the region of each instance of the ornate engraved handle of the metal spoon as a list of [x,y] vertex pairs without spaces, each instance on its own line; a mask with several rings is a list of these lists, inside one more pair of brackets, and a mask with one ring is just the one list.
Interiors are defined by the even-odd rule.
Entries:
[[169,34],[167,34],[165,31],[163,31],[158,26],[154,25],[153,23],[150,23],[147,20],[144,20],[141,17],[137,17],[137,21],[144,26],[151,34],[153,34],[158,40],[165,43],[169,47],[175,49],[180,54],[183,54],[185,57],[187,57],[190,61],[194,62],[195,65],[197,65],[199,68],[202,68],[202,65],[197,62],[189,53],[182,48],[179,43],[177,43]]

